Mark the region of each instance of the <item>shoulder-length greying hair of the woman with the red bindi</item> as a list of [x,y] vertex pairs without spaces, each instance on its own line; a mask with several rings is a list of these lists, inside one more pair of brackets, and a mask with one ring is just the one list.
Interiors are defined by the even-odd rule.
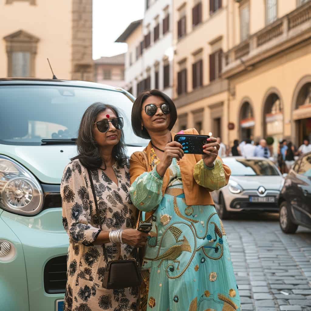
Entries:
[[[71,160],[79,159],[81,164],[89,169],[98,169],[103,164],[105,165],[100,155],[100,148],[93,137],[93,128],[97,114],[106,109],[111,109],[117,117],[120,116],[116,107],[103,103],[94,103],[86,109],[79,126],[77,138],[78,155]],[[112,156],[116,159],[119,166],[125,165],[127,158],[123,131],[121,131],[120,141],[112,149]]]

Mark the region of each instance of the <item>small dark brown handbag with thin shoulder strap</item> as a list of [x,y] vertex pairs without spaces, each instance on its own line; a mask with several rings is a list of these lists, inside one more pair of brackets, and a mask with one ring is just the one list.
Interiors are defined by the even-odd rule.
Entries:
[[[97,219],[99,221],[100,230],[102,230],[101,219],[98,210],[98,204],[94,189],[94,183],[92,180],[92,175],[88,169],[89,179],[91,183],[92,193],[94,197],[95,209]],[[137,248],[134,248],[134,256],[136,258],[124,259],[124,260],[109,260],[107,257],[107,251],[105,244],[103,244],[103,252],[106,261],[105,274],[102,286],[106,289],[122,289],[126,287],[136,287],[140,286],[141,279],[141,266],[138,259]]]

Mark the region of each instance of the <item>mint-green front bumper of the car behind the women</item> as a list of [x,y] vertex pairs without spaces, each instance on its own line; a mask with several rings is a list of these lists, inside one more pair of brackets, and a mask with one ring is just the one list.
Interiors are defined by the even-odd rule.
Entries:
[[[64,289],[51,293],[49,276],[44,273],[50,269],[47,263],[51,259],[55,261],[53,258],[60,258],[61,270],[66,268],[68,235],[63,229],[61,213],[61,208],[50,208],[34,217],[1,213],[0,239],[9,241],[16,249],[12,260],[3,262],[0,258],[0,292],[5,293],[2,310],[55,311],[56,300],[63,299]],[[59,277],[64,284],[65,271],[56,272],[54,284],[60,284]]]

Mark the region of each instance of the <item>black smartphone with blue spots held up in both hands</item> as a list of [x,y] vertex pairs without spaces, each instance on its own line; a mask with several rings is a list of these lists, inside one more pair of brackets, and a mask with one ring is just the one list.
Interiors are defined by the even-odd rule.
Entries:
[[175,142],[179,142],[183,146],[185,154],[204,154],[203,145],[207,144],[208,135],[191,135],[191,134],[177,134],[174,137]]

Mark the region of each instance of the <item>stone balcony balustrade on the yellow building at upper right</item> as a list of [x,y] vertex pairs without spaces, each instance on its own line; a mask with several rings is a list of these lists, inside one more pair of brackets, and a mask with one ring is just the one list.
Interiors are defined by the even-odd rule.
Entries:
[[[223,58],[223,77],[229,77],[243,70],[243,67],[252,66],[273,53],[281,51],[282,46],[283,49],[288,48],[290,42],[298,43],[299,40],[293,39],[308,30],[311,31],[311,1],[249,36],[248,39],[226,52]],[[310,35],[308,34],[307,37]]]

